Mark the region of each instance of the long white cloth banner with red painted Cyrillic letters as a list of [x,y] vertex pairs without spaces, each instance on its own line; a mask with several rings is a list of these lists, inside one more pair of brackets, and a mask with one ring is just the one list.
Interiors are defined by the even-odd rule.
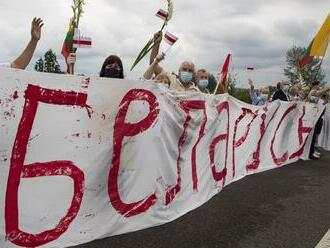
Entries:
[[0,69],[0,247],[67,247],[172,221],[297,161],[319,114]]

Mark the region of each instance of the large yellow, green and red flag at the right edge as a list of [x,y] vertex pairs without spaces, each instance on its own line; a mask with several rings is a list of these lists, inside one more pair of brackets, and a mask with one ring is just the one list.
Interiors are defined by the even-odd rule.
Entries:
[[300,68],[311,63],[314,57],[324,57],[330,39],[330,13],[325,19],[319,32],[316,34],[312,42],[309,44],[304,57],[299,61]]

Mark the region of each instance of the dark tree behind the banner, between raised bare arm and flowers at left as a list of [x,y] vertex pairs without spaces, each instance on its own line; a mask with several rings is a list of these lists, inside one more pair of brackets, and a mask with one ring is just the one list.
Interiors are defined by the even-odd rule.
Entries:
[[41,72],[63,73],[59,63],[57,62],[56,54],[52,49],[49,49],[45,53],[44,57],[40,58],[36,62],[34,69]]

